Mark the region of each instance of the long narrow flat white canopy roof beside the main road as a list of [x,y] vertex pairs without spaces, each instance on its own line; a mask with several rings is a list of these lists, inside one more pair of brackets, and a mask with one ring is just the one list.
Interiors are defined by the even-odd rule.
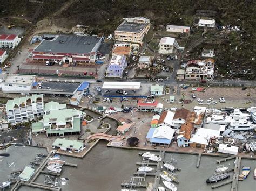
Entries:
[[104,82],[102,89],[139,89],[140,82]]

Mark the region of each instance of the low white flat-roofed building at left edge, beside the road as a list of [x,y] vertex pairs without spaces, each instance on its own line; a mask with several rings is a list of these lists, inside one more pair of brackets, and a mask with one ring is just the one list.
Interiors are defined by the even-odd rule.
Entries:
[[3,92],[18,91],[23,94],[22,91],[30,91],[33,88],[33,83],[36,82],[35,76],[9,74],[6,72],[0,74],[0,87]]

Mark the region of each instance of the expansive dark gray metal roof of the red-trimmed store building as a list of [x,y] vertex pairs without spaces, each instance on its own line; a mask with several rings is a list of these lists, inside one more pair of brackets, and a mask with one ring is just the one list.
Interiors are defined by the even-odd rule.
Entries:
[[43,40],[34,51],[85,54],[92,52],[99,40],[95,36],[60,35],[53,40]]

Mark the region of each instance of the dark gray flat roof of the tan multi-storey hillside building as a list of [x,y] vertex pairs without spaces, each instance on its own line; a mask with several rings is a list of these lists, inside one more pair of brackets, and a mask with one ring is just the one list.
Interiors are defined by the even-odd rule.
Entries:
[[140,33],[147,25],[149,24],[124,21],[117,27],[116,31]]

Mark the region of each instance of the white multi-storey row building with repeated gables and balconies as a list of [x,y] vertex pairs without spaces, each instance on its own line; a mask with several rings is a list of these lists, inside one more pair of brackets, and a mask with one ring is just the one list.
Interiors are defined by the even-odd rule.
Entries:
[[6,103],[8,123],[28,122],[44,114],[43,94],[8,100]]

